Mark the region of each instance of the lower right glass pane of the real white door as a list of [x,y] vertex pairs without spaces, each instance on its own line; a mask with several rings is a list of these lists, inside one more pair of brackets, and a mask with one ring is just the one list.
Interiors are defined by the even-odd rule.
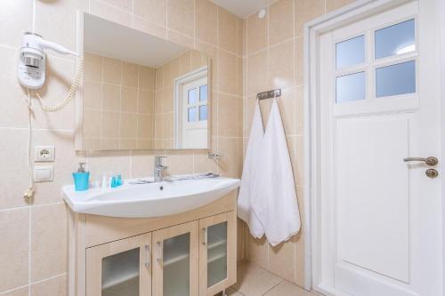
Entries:
[[376,68],[376,97],[416,92],[416,62]]

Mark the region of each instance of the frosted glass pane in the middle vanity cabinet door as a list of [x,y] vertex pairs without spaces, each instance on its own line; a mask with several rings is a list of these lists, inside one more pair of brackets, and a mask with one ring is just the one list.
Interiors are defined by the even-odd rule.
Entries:
[[166,239],[163,244],[163,295],[190,294],[190,233]]

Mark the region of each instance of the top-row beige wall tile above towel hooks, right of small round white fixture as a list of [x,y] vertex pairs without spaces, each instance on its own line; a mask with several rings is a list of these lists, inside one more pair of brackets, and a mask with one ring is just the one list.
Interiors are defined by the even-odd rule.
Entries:
[[270,45],[294,36],[294,2],[293,0],[279,0],[269,7]]

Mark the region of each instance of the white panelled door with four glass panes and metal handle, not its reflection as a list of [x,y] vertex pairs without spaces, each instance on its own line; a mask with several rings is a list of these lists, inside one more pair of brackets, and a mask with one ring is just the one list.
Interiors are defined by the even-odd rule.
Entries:
[[442,295],[443,160],[405,159],[441,156],[435,4],[320,36],[320,283],[335,294]]

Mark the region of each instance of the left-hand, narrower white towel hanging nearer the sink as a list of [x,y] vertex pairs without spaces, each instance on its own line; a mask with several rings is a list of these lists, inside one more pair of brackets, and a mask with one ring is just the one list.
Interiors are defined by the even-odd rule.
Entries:
[[244,159],[243,174],[238,196],[238,216],[245,220],[252,236],[257,238],[264,235],[264,228],[255,212],[252,211],[252,193],[256,186],[256,175],[260,171],[261,149],[263,147],[264,127],[260,106],[256,101],[255,114],[252,120],[250,136],[247,142],[246,157]]

